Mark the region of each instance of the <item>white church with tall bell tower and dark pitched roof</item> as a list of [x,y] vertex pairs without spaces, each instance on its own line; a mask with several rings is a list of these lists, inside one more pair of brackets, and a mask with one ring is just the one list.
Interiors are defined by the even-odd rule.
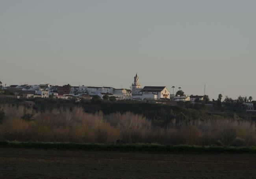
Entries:
[[160,100],[170,99],[170,92],[165,86],[145,86],[141,88],[139,76],[136,74],[134,83],[132,83],[132,98],[133,100]]

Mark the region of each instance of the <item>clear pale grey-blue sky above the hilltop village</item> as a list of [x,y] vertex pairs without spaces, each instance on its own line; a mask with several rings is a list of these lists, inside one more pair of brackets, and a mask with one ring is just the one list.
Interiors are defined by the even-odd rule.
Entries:
[[0,0],[3,84],[256,99],[255,0]]

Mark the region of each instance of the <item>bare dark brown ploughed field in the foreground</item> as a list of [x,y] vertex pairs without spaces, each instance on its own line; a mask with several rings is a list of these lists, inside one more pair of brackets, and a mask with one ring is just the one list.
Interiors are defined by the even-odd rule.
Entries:
[[0,148],[0,178],[256,178],[256,155]]

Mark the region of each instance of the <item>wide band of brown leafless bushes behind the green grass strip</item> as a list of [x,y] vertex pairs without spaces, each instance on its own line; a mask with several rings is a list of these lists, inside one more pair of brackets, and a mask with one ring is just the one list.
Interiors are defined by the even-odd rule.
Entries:
[[[170,110],[167,113],[165,109],[160,108],[154,120],[149,120],[141,114],[131,112],[86,113],[82,107],[37,112],[22,105],[0,105],[0,111],[4,114],[0,124],[0,140],[102,144],[139,142],[204,146],[256,145],[254,122],[241,120],[239,117],[220,118],[192,109],[177,109],[180,111]],[[194,116],[189,118],[186,113]]]

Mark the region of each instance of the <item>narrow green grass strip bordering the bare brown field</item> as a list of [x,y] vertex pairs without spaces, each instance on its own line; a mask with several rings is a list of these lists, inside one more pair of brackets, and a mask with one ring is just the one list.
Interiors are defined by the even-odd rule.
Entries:
[[172,153],[256,153],[255,147],[188,146],[159,144],[84,144],[64,142],[2,141],[0,147],[37,149],[78,149],[87,151],[150,151]]

